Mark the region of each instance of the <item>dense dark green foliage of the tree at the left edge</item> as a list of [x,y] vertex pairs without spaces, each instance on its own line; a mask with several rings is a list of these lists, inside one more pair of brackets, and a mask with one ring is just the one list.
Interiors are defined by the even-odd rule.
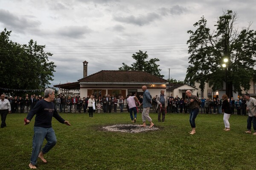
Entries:
[[[12,31],[6,28],[0,33],[0,88],[41,89],[53,80],[54,62],[48,62],[51,53],[45,53],[45,45],[30,40],[28,45],[20,45],[9,40]],[[18,91],[0,92],[19,94]]]

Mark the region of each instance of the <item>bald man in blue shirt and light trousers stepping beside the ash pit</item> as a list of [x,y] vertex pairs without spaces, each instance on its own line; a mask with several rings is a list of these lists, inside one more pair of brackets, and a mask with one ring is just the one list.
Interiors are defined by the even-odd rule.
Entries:
[[[150,126],[149,128],[154,126],[154,123],[152,122],[152,119],[149,117],[149,109],[150,107],[152,107],[152,100],[150,97],[150,93],[147,90],[147,86],[143,85],[142,86],[142,91],[143,93],[143,111],[142,111],[142,121],[143,121],[143,125],[140,125],[141,127],[146,127],[146,120],[148,120],[148,122],[150,122]],[[141,104],[140,104],[141,105]]]

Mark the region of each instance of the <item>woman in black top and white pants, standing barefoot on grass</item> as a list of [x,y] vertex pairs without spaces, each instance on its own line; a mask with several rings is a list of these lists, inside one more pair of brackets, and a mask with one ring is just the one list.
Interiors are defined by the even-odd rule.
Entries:
[[231,108],[230,108],[230,103],[227,100],[227,95],[223,94],[222,95],[222,107],[221,110],[222,112],[224,112],[224,116],[223,116],[223,121],[224,121],[224,125],[225,125],[225,129],[226,131],[230,130],[230,123],[228,122],[228,119],[230,118],[230,114],[231,114]]

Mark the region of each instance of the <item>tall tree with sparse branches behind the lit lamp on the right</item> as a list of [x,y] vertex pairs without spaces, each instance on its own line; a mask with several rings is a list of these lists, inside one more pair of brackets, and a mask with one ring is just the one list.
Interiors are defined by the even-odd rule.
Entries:
[[222,67],[224,58],[227,62],[227,95],[233,96],[234,92],[250,89],[250,80],[254,77],[253,66],[256,60],[256,31],[247,28],[238,31],[236,12],[227,10],[218,17],[215,31],[207,28],[207,20],[204,16],[193,26],[195,31],[187,31],[190,34],[189,65],[185,82],[194,85],[200,83],[204,90],[205,82],[212,86],[212,90],[224,89],[226,71]]

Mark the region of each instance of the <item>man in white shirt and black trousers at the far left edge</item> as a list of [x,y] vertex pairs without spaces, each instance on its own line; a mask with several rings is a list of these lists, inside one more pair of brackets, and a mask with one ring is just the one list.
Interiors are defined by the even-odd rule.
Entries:
[[6,127],[6,116],[8,113],[11,113],[11,105],[9,100],[4,98],[4,94],[1,94],[0,100],[0,114],[1,114],[1,128]]

